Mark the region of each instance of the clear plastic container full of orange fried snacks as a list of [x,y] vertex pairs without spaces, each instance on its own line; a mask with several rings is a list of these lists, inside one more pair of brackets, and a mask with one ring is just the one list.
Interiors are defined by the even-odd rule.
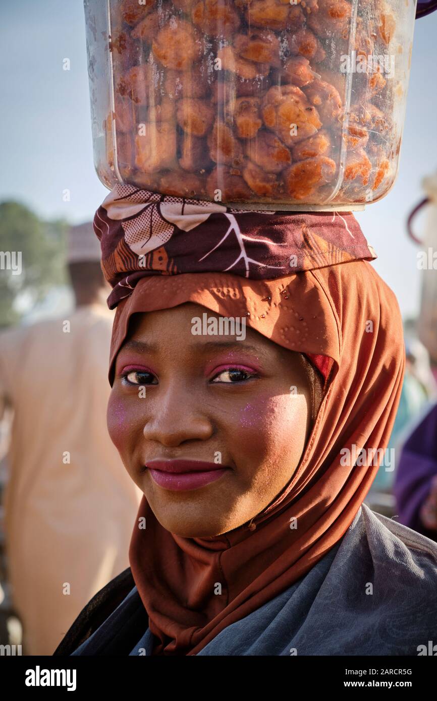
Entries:
[[416,0],[84,4],[108,188],[353,209],[394,184]]

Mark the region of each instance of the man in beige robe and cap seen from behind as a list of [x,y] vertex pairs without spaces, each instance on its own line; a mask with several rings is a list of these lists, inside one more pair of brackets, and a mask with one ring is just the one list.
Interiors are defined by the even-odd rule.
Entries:
[[92,224],[70,230],[68,268],[71,313],[0,334],[0,419],[13,409],[6,554],[26,655],[51,655],[126,569],[142,496],[107,432],[114,313]]

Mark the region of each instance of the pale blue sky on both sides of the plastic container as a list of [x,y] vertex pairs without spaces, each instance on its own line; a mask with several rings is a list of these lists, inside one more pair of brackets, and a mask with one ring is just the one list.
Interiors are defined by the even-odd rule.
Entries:
[[[108,193],[95,175],[86,42],[81,0],[0,1],[0,200],[14,198],[42,217],[92,219]],[[71,70],[62,70],[69,58]],[[419,308],[417,247],[405,231],[422,199],[421,180],[437,171],[437,12],[415,23],[401,165],[394,188],[358,212],[378,259],[373,265],[394,290],[404,315]],[[71,201],[62,201],[62,191]],[[425,217],[417,219],[423,232]]]

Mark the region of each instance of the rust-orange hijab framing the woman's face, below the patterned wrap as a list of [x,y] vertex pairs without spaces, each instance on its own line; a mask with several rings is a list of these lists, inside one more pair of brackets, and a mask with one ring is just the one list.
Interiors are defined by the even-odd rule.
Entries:
[[[246,316],[281,346],[324,355],[326,381],[300,465],[250,523],[217,537],[180,538],[142,498],[138,518],[146,517],[147,529],[135,524],[129,560],[157,638],[154,655],[195,655],[302,578],[342,538],[378,469],[380,453],[369,451],[389,441],[405,363],[396,297],[371,264],[356,260],[275,280],[213,272],[143,277],[116,309],[110,379],[130,316],[185,301]],[[353,456],[346,465],[342,449]],[[292,517],[297,529],[290,529]],[[217,582],[224,597],[214,594]]]

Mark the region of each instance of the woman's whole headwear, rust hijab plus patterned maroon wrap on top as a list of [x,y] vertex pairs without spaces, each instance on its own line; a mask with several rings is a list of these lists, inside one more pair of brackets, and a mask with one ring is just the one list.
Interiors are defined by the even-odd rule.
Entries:
[[[249,523],[221,536],[181,538],[159,524],[142,498],[138,517],[146,517],[147,529],[135,524],[129,560],[157,639],[154,654],[195,655],[224,628],[302,578],[347,531],[378,470],[380,454],[375,451],[386,448],[396,416],[405,362],[401,314],[393,292],[368,262],[375,253],[351,214],[269,212],[263,214],[263,224],[259,212],[222,207],[217,217],[224,221],[213,221],[213,231],[223,224],[224,233],[231,227],[246,232],[246,239],[235,236],[233,249],[228,242],[227,255],[232,250],[237,258],[241,250],[246,254],[246,244],[252,238],[255,245],[258,238],[260,248],[246,259],[261,268],[236,266],[227,271],[216,261],[215,270],[198,271],[201,256],[191,249],[189,272],[189,254],[182,243],[184,233],[195,228],[189,229],[183,218],[191,216],[191,210],[187,200],[171,198],[183,205],[177,224],[175,217],[171,224],[164,217],[174,227],[167,241],[179,238],[176,243],[184,255],[178,257],[173,249],[170,256],[169,248],[161,245],[151,250],[142,269],[140,253],[126,253],[132,251],[126,230],[137,232],[137,242],[159,233],[156,226],[163,229],[162,222],[156,225],[152,220],[165,198],[155,199],[151,211],[147,208],[153,193],[121,190],[111,193],[111,205],[104,203],[95,217],[102,269],[114,287],[108,304],[118,305],[111,384],[131,315],[187,301],[220,315],[246,317],[248,326],[271,341],[308,355],[325,378],[323,400],[300,465],[274,501]],[[129,209],[132,197],[135,212]],[[112,209],[114,200],[118,212]],[[215,233],[218,247],[227,239]],[[214,243],[209,235],[208,245]],[[281,267],[289,260],[293,267],[284,274]],[[271,266],[268,273],[262,264]],[[351,451],[351,461],[345,460],[344,449]],[[363,465],[354,464],[357,455]],[[293,517],[297,529],[290,528]],[[215,583],[222,585],[221,596],[214,593]]]

